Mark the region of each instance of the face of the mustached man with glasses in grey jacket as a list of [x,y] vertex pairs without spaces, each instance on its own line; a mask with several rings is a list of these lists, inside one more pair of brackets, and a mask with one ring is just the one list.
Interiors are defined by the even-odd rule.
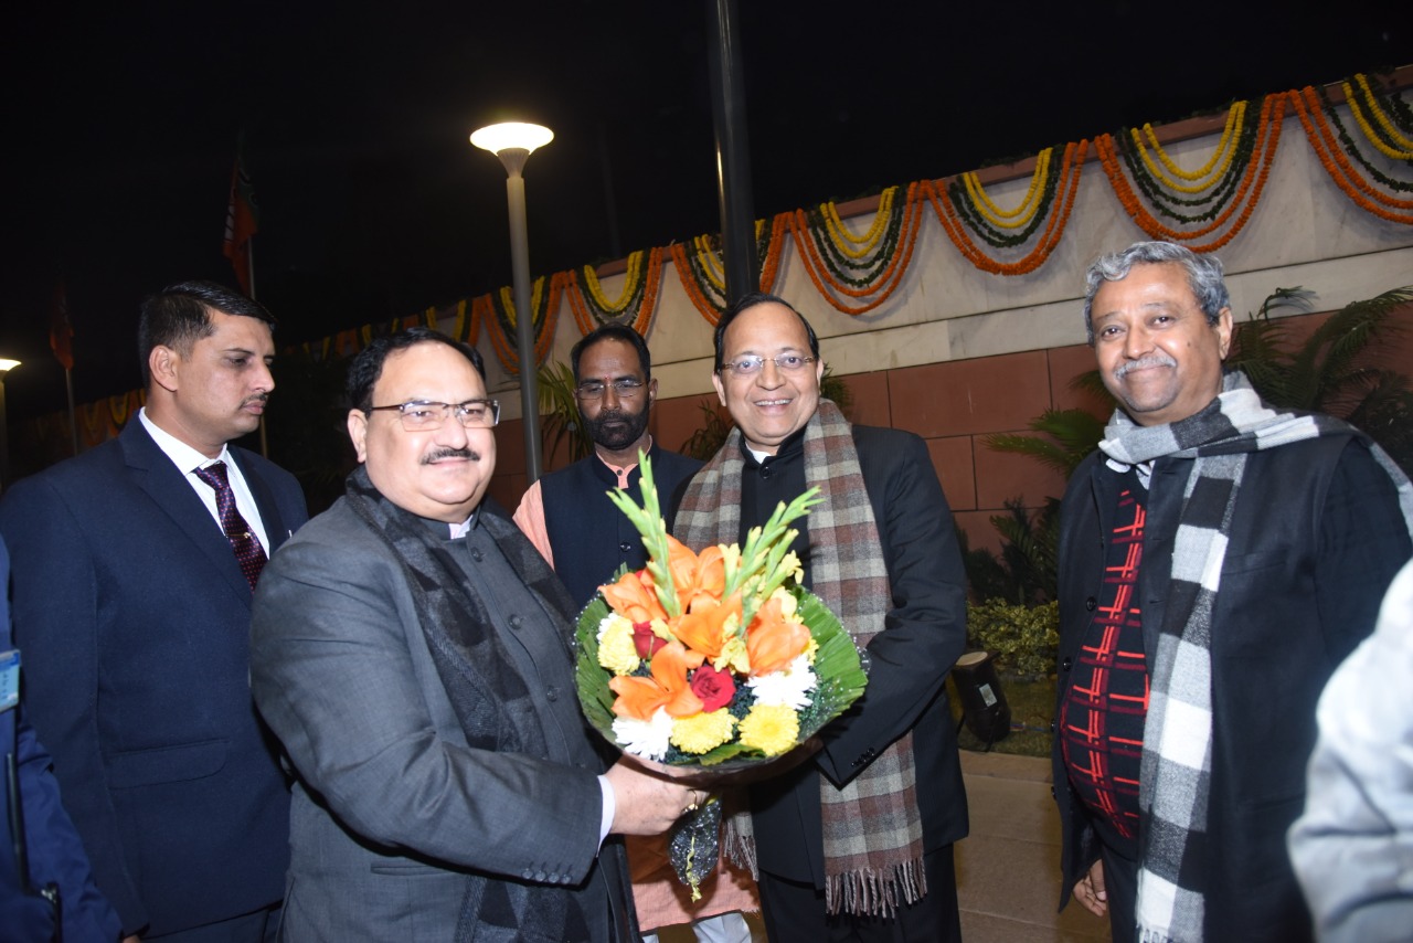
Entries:
[[[373,386],[373,406],[411,400],[465,403],[485,399],[486,385],[463,355],[425,342],[396,351]],[[349,410],[349,438],[373,486],[420,517],[461,523],[480,503],[496,469],[489,428],[465,428],[448,417],[441,428],[408,431],[397,410]]]

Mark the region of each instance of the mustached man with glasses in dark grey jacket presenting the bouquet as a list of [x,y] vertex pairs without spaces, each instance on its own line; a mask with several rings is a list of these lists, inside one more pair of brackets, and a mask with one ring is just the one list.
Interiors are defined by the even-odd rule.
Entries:
[[574,604],[485,498],[480,359],[411,328],[349,370],[348,492],[266,570],[252,686],[298,775],[290,940],[632,940],[613,833],[701,797],[605,772],[579,713]]

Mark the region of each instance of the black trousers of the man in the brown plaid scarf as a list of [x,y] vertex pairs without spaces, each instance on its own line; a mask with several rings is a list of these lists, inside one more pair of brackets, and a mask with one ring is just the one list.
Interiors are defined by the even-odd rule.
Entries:
[[952,845],[923,855],[927,895],[901,908],[892,919],[828,916],[824,891],[812,884],[788,881],[760,872],[760,910],[770,943],[959,943],[961,915],[957,910],[957,867]]

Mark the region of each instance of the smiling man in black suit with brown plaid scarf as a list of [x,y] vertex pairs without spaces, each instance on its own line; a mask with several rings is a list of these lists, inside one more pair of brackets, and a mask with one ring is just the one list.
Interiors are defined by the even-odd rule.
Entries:
[[944,680],[966,643],[966,587],[952,516],[926,444],[851,426],[822,376],[814,329],[781,298],[732,305],[712,383],[736,428],[675,502],[673,533],[699,550],[820,486],[793,550],[872,659],[812,762],[753,786],[738,828],[755,834],[771,940],[957,940],[966,796]]

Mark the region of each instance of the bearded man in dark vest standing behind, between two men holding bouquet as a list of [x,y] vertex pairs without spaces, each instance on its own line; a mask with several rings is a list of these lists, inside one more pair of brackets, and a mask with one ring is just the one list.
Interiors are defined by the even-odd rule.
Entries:
[[643,541],[606,492],[622,488],[643,503],[637,454],[653,461],[653,478],[666,502],[701,462],[660,448],[647,431],[657,399],[647,344],[626,324],[605,324],[569,352],[575,399],[593,454],[530,485],[516,523],[540,549],[584,607],[610,582],[619,566],[647,564]]

